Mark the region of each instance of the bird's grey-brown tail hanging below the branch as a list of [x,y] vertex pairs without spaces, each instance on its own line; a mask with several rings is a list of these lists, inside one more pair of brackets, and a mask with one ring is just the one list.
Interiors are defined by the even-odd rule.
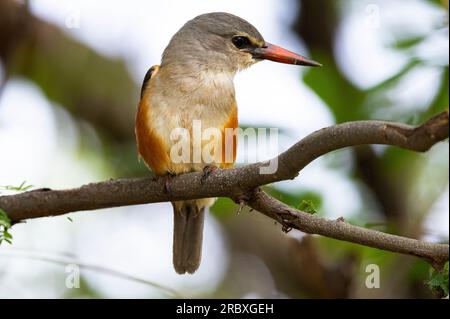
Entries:
[[173,266],[177,273],[194,273],[200,266],[205,206],[196,201],[173,205]]

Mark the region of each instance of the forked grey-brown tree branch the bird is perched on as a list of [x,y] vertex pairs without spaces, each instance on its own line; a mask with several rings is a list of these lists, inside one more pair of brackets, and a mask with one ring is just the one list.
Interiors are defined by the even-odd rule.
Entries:
[[321,219],[296,211],[255,189],[269,183],[293,179],[316,158],[344,147],[384,144],[424,152],[437,142],[448,138],[448,134],[448,111],[436,115],[418,127],[384,121],[348,122],[308,135],[271,160],[272,163],[278,163],[278,169],[270,174],[261,174],[261,169],[267,167],[269,161],[219,169],[203,182],[202,173],[183,174],[171,180],[169,192],[164,190],[164,181],[159,178],[117,179],[75,189],[42,189],[0,196],[0,208],[7,212],[13,222],[18,222],[81,210],[226,196],[235,201],[245,199],[249,206],[286,227],[416,255],[436,264],[448,260],[448,245],[424,243]]

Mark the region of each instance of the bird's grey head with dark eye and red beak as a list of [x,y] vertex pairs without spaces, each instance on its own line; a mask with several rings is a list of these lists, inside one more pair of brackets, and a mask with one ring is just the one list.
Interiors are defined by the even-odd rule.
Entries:
[[272,45],[250,23],[235,15],[214,12],[188,21],[164,50],[161,66],[174,64],[236,72],[268,59],[319,66],[317,62]]

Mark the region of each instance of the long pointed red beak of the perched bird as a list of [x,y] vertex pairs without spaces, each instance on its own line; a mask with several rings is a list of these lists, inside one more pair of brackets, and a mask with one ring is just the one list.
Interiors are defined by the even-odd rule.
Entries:
[[255,59],[264,59],[280,63],[305,66],[322,66],[319,62],[310,60],[300,54],[288,51],[268,42],[266,42],[263,47],[253,49],[250,53]]

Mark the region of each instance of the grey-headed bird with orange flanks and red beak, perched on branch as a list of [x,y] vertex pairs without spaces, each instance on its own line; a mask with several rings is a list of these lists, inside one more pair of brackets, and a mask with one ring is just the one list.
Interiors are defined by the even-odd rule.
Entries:
[[[235,136],[225,141],[224,131],[238,127],[234,76],[262,60],[321,66],[266,42],[252,24],[225,12],[199,15],[170,39],[161,63],[152,66],[144,77],[135,120],[138,157],[157,177],[164,178],[166,190],[170,191],[172,176],[203,172],[207,178],[217,168],[233,167],[237,141]],[[212,152],[210,161],[194,161],[190,154],[195,146],[203,147],[210,140],[195,142],[182,134],[174,139],[174,132],[180,129],[188,136],[193,134],[196,121],[201,124],[201,132],[214,128],[220,133],[219,144],[214,144],[219,145],[214,150],[219,155]],[[174,152],[180,140],[187,144],[181,150],[188,153],[183,154],[182,161],[180,153]],[[225,146],[227,153],[232,152],[225,154],[231,160],[225,160],[220,152]],[[193,274],[200,266],[205,210],[214,201],[172,202],[173,266],[179,274]]]

